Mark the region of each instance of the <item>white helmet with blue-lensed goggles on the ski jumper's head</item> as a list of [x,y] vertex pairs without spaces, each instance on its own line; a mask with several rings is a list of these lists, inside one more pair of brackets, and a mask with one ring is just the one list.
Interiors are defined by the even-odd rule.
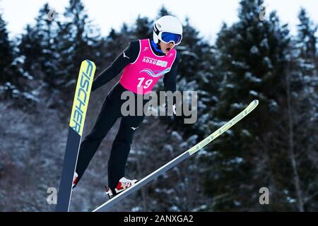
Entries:
[[153,26],[153,41],[179,44],[182,40],[182,24],[175,16],[163,16]]

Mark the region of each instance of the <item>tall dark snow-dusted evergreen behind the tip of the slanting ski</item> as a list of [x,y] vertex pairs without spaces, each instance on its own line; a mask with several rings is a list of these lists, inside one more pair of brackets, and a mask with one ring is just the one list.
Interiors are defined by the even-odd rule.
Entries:
[[[285,69],[288,59],[287,25],[281,25],[275,12],[260,20],[261,0],[240,1],[239,21],[223,25],[216,40],[222,76],[220,97],[213,111],[215,130],[234,117],[249,102],[258,99],[259,107],[240,124],[228,130],[209,148],[206,191],[215,198],[211,210],[249,210],[261,208],[258,191],[271,191],[271,210],[282,202],[276,180],[278,161],[288,164],[282,150],[273,147],[285,107]],[[279,156],[283,156],[278,160]],[[285,163],[284,163],[285,162]],[[276,197],[279,196],[279,201]],[[220,198],[222,197],[222,198]],[[266,207],[263,207],[266,208]]]

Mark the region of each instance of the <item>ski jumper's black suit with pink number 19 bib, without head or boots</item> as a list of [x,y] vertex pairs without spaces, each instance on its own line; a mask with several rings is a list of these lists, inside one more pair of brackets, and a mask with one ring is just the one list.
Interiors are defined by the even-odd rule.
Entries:
[[[119,179],[124,177],[134,132],[144,119],[144,115],[122,115],[121,107],[126,102],[126,100],[121,99],[124,91],[131,91],[137,99],[138,95],[149,93],[155,83],[161,77],[164,77],[165,90],[175,92],[179,54],[177,54],[175,49],[171,49],[167,54],[157,52],[153,44],[153,40],[131,42],[129,47],[117,57],[112,65],[103,71],[98,78],[95,78],[93,91],[110,81],[124,69],[119,82],[114,85],[105,98],[92,131],[88,133],[81,143],[76,165],[78,180],[83,176],[103,138],[105,138],[108,131],[119,118],[121,118],[119,130],[112,143],[107,165],[108,186],[110,189],[114,190]],[[146,102],[148,100],[143,100],[143,105]]]

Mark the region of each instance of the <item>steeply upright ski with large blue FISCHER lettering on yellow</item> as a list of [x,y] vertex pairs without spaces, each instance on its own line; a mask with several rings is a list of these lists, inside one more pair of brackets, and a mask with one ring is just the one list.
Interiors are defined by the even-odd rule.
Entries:
[[76,169],[78,150],[81,144],[90,90],[92,88],[96,66],[93,61],[83,61],[78,74],[76,91],[73,100],[71,119],[69,123],[69,135],[66,142],[64,164],[57,196],[57,208],[59,212],[69,211],[71,202],[71,189],[73,174]]

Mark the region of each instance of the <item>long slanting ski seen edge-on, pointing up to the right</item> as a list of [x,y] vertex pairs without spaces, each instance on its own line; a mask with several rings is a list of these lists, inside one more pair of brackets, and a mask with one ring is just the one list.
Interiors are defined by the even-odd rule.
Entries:
[[118,203],[121,201],[123,198],[126,196],[129,196],[129,194],[133,193],[134,191],[139,190],[142,186],[148,184],[148,182],[153,181],[155,178],[159,177],[160,175],[164,174],[167,172],[167,170],[171,169],[172,167],[175,167],[175,165],[178,165],[179,162],[182,162],[183,160],[187,159],[194,153],[196,153],[198,150],[203,148],[205,145],[208,143],[211,143],[214,139],[216,139],[218,136],[220,136],[222,133],[230,129],[230,127],[234,126],[238,121],[243,119],[244,117],[249,114],[249,112],[252,112],[255,107],[259,104],[258,100],[253,100],[240,114],[237,114],[236,117],[228,121],[226,124],[224,124],[220,129],[212,133],[210,136],[204,138],[203,141],[199,142],[198,144],[194,145],[192,148],[189,150],[184,151],[181,155],[175,157],[173,160],[170,162],[167,162],[165,165],[160,167],[159,169],[155,170],[151,174],[148,174],[148,176],[144,177],[141,179],[138,183],[136,183],[134,186],[131,186],[129,189],[126,189],[123,191],[121,194],[118,194],[116,197],[110,199],[109,201],[103,203],[101,206],[98,208],[95,208],[93,212],[100,212],[100,211],[105,211],[109,208],[111,208],[115,203]]

